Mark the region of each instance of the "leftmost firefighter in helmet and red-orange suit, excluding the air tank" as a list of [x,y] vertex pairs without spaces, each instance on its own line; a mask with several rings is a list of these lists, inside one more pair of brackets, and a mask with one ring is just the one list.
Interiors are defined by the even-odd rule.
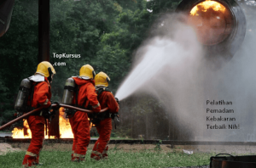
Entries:
[[50,103],[50,83],[54,74],[55,69],[52,64],[43,61],[38,64],[38,69],[35,75],[29,77],[29,80],[32,81],[33,89],[27,104],[31,109],[43,106],[44,110],[38,111],[26,118],[32,132],[32,140],[22,162],[22,165],[25,167],[38,165],[39,153],[41,148],[43,148],[44,140],[44,116],[49,115],[50,111],[52,111]]

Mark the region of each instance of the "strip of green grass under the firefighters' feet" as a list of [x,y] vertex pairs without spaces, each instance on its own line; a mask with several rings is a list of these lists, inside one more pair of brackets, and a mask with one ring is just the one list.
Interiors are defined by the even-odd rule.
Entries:
[[[141,152],[124,152],[122,150],[109,150],[108,160],[90,160],[91,149],[87,151],[86,161],[71,162],[71,152],[42,151],[40,162],[44,165],[38,167],[176,167],[192,165],[209,165],[209,159],[215,154],[183,154],[164,153],[160,150],[144,150]],[[1,167],[20,167],[25,152],[8,153],[0,155]]]

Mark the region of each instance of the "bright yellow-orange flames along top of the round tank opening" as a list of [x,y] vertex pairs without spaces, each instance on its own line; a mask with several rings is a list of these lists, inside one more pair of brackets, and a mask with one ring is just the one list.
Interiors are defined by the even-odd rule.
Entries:
[[207,12],[209,8],[212,8],[214,11],[221,11],[222,13],[224,13],[226,9],[224,5],[222,5],[221,3],[212,0],[207,0],[202,3],[198,3],[194,8],[192,8],[190,11],[190,15],[197,16],[199,15],[199,11]]

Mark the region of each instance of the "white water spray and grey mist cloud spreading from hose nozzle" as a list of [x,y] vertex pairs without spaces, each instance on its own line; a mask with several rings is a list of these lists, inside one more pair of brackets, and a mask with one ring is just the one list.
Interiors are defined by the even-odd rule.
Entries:
[[[214,63],[205,58],[193,28],[181,21],[183,15],[161,18],[152,36],[137,50],[134,68],[116,97],[122,100],[137,92],[152,94],[166,106],[178,132],[189,132],[188,140],[256,141],[254,13],[246,12],[247,35],[233,59],[226,62],[220,57]],[[207,100],[232,104],[211,105]],[[234,113],[207,113],[207,109],[224,108]],[[209,121],[207,117],[235,120]],[[238,128],[209,128],[214,125]]]

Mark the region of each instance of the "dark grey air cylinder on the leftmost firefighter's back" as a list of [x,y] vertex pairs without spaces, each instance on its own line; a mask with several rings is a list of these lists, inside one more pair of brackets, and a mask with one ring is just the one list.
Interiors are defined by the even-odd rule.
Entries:
[[15,102],[15,110],[18,112],[26,112],[27,98],[30,95],[32,82],[27,78],[20,83],[20,89]]

